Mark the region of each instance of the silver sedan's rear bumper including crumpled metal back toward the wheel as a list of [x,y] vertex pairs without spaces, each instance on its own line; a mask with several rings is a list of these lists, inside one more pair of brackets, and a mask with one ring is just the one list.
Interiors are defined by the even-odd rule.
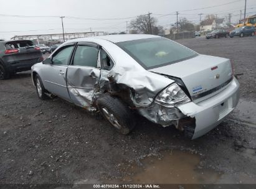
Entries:
[[149,121],[162,126],[174,125],[196,139],[220,124],[234,110],[238,101],[239,83],[234,78],[225,90],[200,103],[190,102],[176,108],[165,108],[154,103],[153,107],[138,111]]

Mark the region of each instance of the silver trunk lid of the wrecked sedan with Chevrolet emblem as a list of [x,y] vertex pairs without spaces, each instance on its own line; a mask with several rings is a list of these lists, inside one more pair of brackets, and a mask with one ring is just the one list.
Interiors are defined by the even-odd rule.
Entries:
[[198,55],[149,71],[181,78],[195,103],[224,90],[233,78],[229,59],[208,55]]

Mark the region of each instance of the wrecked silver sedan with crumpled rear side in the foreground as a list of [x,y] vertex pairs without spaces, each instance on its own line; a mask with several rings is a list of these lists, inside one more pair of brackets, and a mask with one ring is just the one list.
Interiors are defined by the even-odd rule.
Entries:
[[216,127],[239,101],[227,58],[201,55],[156,35],[102,35],[60,45],[32,67],[40,99],[57,95],[100,111],[121,134],[139,113],[196,139]]

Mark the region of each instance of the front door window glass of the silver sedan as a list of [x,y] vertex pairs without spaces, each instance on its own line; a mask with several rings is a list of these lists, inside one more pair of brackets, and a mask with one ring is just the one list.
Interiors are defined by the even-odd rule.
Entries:
[[52,58],[52,64],[54,65],[69,65],[70,56],[73,50],[73,46],[61,48],[57,54],[54,54]]

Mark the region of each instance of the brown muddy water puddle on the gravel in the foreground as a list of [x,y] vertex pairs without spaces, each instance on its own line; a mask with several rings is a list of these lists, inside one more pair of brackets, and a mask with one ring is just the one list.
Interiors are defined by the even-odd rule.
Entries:
[[[146,157],[140,160],[141,166],[123,167],[132,175],[126,176],[122,182],[131,183],[216,183],[222,173],[206,170],[196,154],[179,150],[161,152],[162,157]],[[202,165],[203,166],[203,165]]]

